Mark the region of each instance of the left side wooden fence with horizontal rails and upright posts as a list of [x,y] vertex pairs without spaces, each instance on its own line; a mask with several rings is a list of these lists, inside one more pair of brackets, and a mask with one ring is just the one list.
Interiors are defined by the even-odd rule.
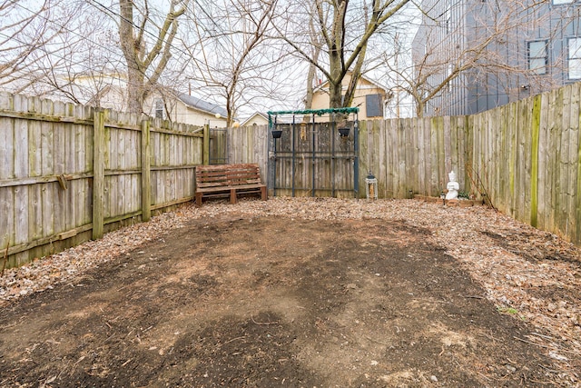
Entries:
[[[6,266],[190,201],[207,128],[0,94],[0,250]],[[4,264],[4,263],[3,263]]]

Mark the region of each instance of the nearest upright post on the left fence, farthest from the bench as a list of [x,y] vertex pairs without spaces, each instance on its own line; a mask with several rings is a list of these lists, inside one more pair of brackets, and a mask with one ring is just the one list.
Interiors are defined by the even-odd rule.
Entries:
[[93,122],[93,239],[103,237],[105,178],[105,113],[94,110]]

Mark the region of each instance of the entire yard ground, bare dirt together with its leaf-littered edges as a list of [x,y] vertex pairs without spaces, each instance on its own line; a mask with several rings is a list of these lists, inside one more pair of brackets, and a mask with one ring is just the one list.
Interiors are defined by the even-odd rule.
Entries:
[[579,250],[482,206],[188,204],[0,297],[0,386],[581,384]]

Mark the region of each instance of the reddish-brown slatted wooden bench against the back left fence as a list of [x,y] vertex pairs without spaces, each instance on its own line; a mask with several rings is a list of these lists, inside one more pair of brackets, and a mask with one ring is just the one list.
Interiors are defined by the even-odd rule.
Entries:
[[196,166],[196,204],[202,197],[228,196],[236,204],[236,194],[261,194],[267,200],[266,185],[261,183],[258,164],[217,164]]

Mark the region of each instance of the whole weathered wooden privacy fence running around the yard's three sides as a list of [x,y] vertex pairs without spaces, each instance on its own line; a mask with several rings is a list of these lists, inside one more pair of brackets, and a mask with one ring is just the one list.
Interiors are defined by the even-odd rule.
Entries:
[[[460,191],[581,245],[580,85],[471,116],[361,122],[359,195],[369,172],[381,198],[439,195],[454,170]],[[0,252],[24,264],[192,200],[211,144],[228,144],[228,163],[259,164],[271,187],[268,127],[226,136],[212,144],[207,127],[0,94]]]

